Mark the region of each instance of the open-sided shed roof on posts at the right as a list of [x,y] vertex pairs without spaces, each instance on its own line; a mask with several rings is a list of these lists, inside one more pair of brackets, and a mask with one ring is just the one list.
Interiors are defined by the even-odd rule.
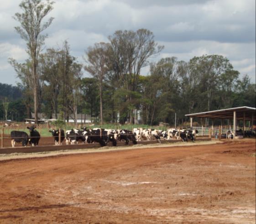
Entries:
[[233,130],[235,135],[236,130],[236,120],[243,120],[243,132],[245,134],[245,121],[251,121],[251,129],[253,127],[253,121],[256,119],[256,108],[253,107],[235,107],[235,108],[228,108],[228,109],[219,109],[207,112],[201,112],[196,114],[189,114],[185,115],[190,117],[190,126],[192,128],[193,117],[199,118],[211,118],[211,119],[232,119],[233,120]]

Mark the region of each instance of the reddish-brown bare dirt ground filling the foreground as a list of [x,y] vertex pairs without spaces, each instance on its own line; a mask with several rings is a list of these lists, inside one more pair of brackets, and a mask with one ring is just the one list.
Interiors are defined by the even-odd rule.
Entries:
[[255,223],[256,140],[0,161],[0,223]]

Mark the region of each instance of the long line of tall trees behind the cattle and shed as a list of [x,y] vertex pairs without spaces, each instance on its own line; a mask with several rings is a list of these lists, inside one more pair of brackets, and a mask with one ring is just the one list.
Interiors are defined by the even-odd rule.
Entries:
[[[167,57],[149,63],[164,46],[156,43],[153,33],[146,29],[115,31],[108,42],[95,43],[86,50],[84,64],[71,55],[67,41],[42,53],[47,37],[42,31],[53,21],[47,17],[53,4],[22,0],[22,13],[14,16],[20,23],[15,30],[26,42],[29,58],[25,63],[12,58],[9,62],[21,80],[20,112],[27,117],[35,112],[36,123],[40,112],[49,118],[52,114],[57,118],[59,113],[61,120],[68,120],[71,114],[74,120],[78,113],[90,114],[101,124],[132,124],[136,120],[149,125],[173,124],[175,113],[178,123],[182,123],[187,113],[255,107],[255,84],[247,75],[239,79],[239,72],[226,57],[203,55],[189,62]],[[143,76],[141,69],[146,66],[150,74]],[[84,71],[92,78],[83,78]],[[10,117],[8,100],[1,104],[5,118]]]

